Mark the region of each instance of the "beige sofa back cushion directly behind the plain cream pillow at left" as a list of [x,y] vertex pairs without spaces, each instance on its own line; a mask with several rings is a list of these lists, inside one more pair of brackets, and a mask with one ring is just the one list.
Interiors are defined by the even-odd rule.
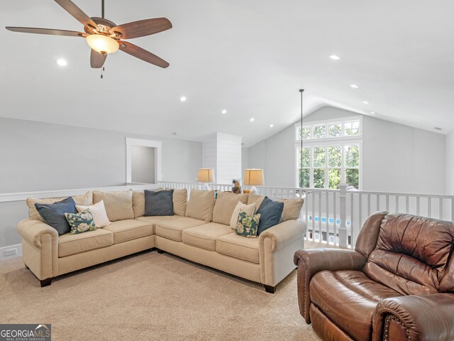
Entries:
[[95,190],[93,192],[94,203],[96,204],[96,202],[101,200],[104,200],[107,217],[109,217],[111,222],[134,219],[132,190],[118,190],[114,192]]

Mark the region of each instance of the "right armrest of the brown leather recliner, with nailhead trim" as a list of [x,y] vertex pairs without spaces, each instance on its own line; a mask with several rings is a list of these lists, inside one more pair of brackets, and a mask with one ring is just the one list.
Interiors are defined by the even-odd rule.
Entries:
[[453,311],[450,293],[385,298],[372,317],[372,340],[454,340]]

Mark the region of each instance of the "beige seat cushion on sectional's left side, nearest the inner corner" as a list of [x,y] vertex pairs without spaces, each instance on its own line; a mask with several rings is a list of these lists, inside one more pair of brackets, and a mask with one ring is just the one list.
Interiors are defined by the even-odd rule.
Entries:
[[118,220],[104,227],[114,234],[114,244],[128,242],[128,240],[151,236],[155,233],[153,224],[140,222],[140,220]]

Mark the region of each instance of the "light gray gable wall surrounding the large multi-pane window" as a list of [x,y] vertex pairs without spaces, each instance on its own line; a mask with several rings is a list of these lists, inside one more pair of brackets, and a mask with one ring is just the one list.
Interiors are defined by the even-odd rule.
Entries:
[[[304,117],[303,124],[354,116],[362,115],[323,107]],[[445,193],[445,136],[367,116],[362,124],[363,190]],[[294,187],[294,145],[292,124],[248,148],[249,166],[263,167],[265,185]]]

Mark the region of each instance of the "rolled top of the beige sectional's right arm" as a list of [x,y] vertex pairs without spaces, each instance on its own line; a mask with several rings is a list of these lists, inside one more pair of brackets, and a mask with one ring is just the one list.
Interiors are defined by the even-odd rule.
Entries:
[[305,233],[306,222],[304,220],[287,220],[265,229],[258,237],[258,244],[263,247],[265,239],[270,238],[271,251],[275,252],[292,244],[296,239],[304,237]]

